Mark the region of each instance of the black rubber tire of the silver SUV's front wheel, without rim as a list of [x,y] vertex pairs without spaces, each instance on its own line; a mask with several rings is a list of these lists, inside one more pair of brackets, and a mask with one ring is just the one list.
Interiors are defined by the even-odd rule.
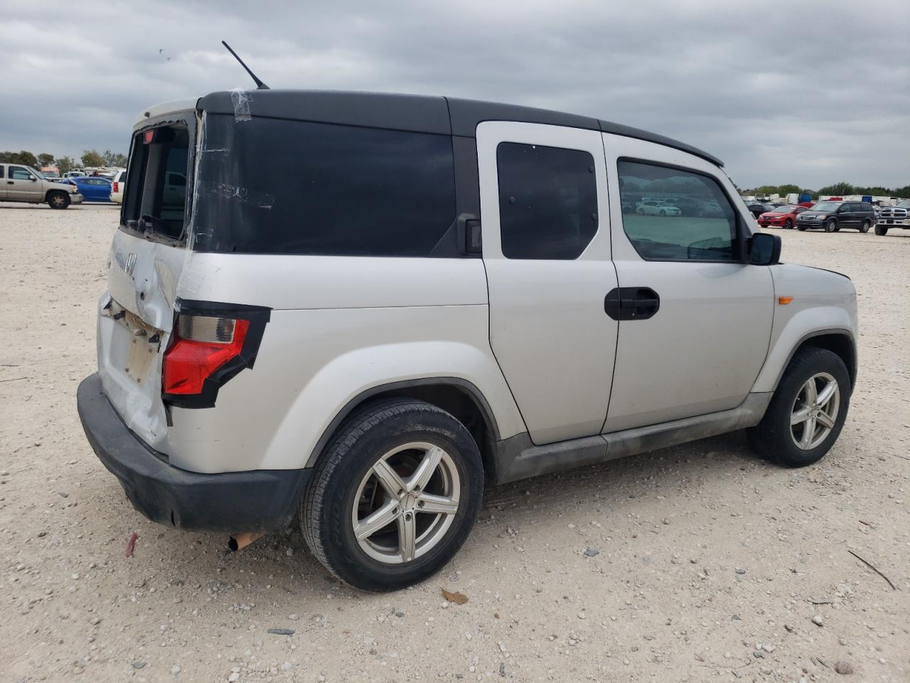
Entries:
[[[794,443],[790,427],[790,415],[796,397],[806,380],[818,372],[828,372],[837,381],[840,389],[840,407],[834,421],[834,429],[810,451],[804,451]],[[844,362],[834,352],[824,349],[810,349],[800,352],[784,373],[768,411],[763,418],[764,437],[769,439],[769,451],[775,462],[787,467],[804,467],[818,462],[826,454],[841,430],[844,428],[846,415],[850,408],[850,374]]]

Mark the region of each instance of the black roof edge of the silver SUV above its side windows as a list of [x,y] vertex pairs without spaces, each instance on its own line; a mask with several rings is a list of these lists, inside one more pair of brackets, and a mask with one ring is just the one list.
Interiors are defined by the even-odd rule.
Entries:
[[[253,117],[276,117],[349,126],[367,126],[440,133],[473,138],[481,121],[521,121],[551,126],[600,130],[656,142],[707,159],[717,166],[723,161],[702,149],[647,130],[623,126],[599,118],[581,117],[560,111],[503,105],[456,97],[393,95],[341,90],[247,90],[249,113]],[[233,114],[230,92],[201,97],[197,108],[214,114]]]

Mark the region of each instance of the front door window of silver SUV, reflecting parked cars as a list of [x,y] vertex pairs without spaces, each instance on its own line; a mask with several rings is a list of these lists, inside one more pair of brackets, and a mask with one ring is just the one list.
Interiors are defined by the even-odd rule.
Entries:
[[642,259],[737,260],[736,211],[717,180],[650,162],[617,167],[622,229]]

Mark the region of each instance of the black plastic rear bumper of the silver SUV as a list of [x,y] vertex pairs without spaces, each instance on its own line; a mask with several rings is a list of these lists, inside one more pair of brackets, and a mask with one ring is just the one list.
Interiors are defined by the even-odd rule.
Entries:
[[130,503],[153,522],[228,533],[278,531],[297,512],[311,470],[188,472],[168,464],[127,429],[97,373],[79,384],[76,403],[88,443],[120,480]]

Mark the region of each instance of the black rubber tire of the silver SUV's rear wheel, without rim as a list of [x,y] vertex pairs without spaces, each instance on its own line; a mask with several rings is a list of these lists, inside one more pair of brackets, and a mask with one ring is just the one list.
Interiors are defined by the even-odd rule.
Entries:
[[[407,565],[388,565],[360,548],[351,525],[351,510],[360,482],[379,455],[409,442],[432,443],[450,454],[460,477],[461,505],[446,536],[430,552]],[[464,543],[480,511],[483,464],[470,432],[454,417],[442,411],[414,411],[407,417],[399,414],[370,426],[325,480],[313,485],[322,485],[324,499],[329,501],[321,510],[319,528],[331,569],[352,586],[395,590],[435,574]]]

